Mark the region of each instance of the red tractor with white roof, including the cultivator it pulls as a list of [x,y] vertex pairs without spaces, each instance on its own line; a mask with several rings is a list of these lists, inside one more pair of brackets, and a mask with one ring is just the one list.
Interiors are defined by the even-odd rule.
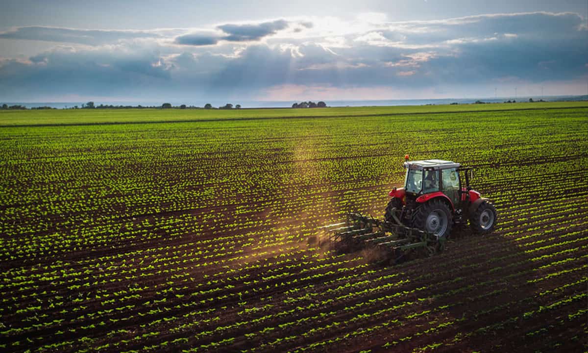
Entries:
[[443,251],[454,224],[470,223],[473,232],[487,234],[496,226],[496,208],[470,187],[472,168],[427,159],[408,161],[403,188],[394,188],[384,220],[349,213],[346,222],[328,225],[329,240],[340,251],[378,247],[394,262],[409,254]]

